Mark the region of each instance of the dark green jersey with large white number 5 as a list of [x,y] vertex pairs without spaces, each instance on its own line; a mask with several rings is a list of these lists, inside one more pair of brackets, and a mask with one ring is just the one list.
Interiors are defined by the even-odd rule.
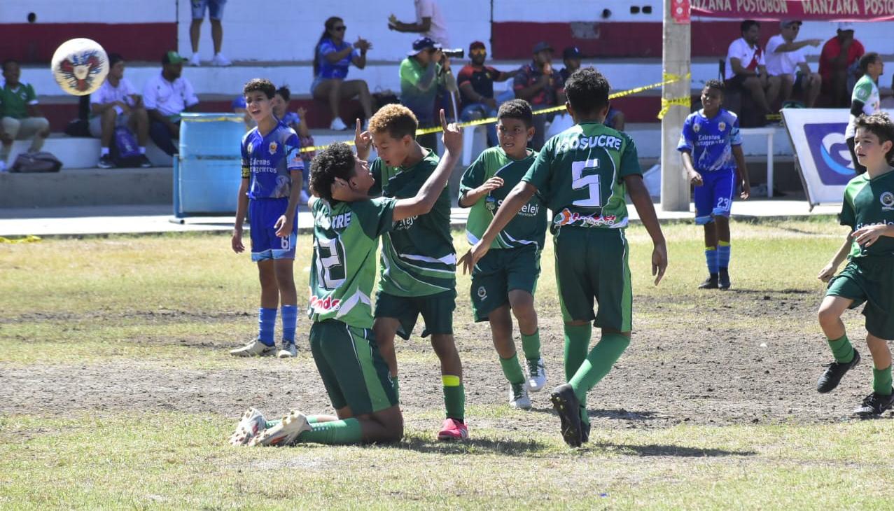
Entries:
[[624,177],[642,174],[637,147],[627,134],[584,122],[550,138],[522,178],[552,210],[553,233],[562,226],[627,226]]

